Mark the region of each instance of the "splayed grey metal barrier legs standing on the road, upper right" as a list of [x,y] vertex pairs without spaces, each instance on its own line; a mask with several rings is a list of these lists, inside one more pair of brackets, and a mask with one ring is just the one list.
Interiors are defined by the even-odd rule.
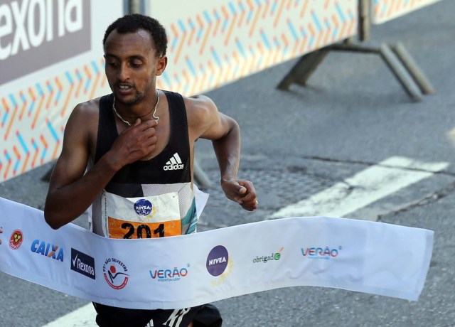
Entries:
[[372,47],[350,43],[349,41],[329,45],[326,48],[321,48],[301,56],[289,73],[279,82],[277,88],[279,90],[289,90],[291,84],[306,85],[306,81],[331,50],[375,53],[380,55],[407,94],[416,102],[422,101],[422,94],[429,95],[434,93],[434,87],[432,87],[427,77],[420,70],[402,43],[395,45],[382,43],[379,47]]

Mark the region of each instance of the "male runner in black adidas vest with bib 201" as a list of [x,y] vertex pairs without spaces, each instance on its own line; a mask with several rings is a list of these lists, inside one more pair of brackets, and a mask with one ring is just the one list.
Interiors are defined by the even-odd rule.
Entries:
[[[208,97],[156,89],[156,77],[167,65],[166,43],[163,26],[147,16],[127,15],[107,28],[103,45],[112,94],[78,104],[68,119],[45,201],[45,220],[51,227],[70,223],[90,207],[92,231],[105,237],[195,232],[199,213],[193,156],[199,138],[213,141],[225,195],[246,210],[257,208],[252,183],[237,180],[237,122],[218,112]],[[178,200],[170,200],[174,195]],[[136,198],[164,200],[163,215],[169,220],[148,220],[149,212],[141,213],[141,221],[122,216]],[[180,219],[172,220],[175,213]],[[95,304],[95,309],[99,326],[221,325],[218,310],[210,305],[131,310]],[[207,318],[206,324],[201,317]]]

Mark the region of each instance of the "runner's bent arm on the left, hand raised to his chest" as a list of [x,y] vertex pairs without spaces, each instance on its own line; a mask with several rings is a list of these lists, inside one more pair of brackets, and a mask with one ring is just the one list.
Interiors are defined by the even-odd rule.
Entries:
[[112,148],[85,173],[95,149],[98,103],[79,104],[65,127],[63,149],[50,177],[44,217],[54,229],[70,223],[84,213],[122,166],[141,159],[156,144],[154,120],[125,129]]

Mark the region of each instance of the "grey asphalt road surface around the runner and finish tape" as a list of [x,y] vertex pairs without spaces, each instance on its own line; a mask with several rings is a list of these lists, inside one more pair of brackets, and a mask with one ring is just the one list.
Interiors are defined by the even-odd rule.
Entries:
[[[455,326],[454,13],[455,1],[444,0],[373,26],[373,44],[402,42],[432,82],[437,92],[422,102],[410,100],[378,55],[348,52],[330,53],[306,87],[276,89],[291,60],[208,92],[240,123],[240,177],[255,182],[261,206],[246,213],[223,198],[211,146],[198,141],[198,162],[213,181],[200,230],[263,220],[392,156],[449,164],[349,215],[434,230],[419,301],[277,289],[218,301],[225,326]],[[0,183],[0,196],[42,208],[49,167]],[[86,304],[6,274],[0,290],[0,326],[43,326]]]

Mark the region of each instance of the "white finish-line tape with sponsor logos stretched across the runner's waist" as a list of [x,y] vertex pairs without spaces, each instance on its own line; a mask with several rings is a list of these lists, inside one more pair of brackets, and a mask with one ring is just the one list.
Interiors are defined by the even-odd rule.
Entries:
[[176,237],[114,240],[0,198],[0,270],[110,306],[179,309],[289,286],[417,300],[431,230],[284,218]]

